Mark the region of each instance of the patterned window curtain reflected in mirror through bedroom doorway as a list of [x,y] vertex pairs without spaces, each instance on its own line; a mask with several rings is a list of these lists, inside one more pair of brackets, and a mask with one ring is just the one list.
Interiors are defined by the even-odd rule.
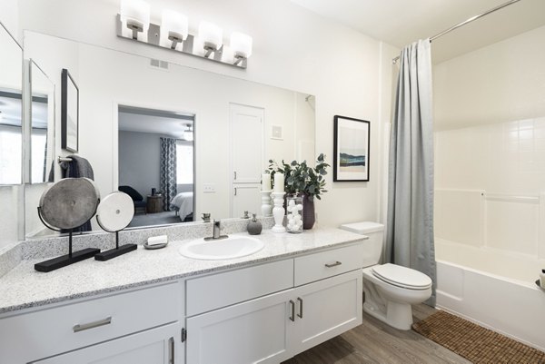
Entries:
[[160,184],[163,211],[171,211],[170,202],[176,195],[176,139],[161,138]]

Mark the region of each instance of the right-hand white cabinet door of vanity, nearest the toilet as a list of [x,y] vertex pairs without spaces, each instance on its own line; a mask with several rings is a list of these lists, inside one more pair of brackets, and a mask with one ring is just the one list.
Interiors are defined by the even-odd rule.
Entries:
[[295,289],[295,352],[310,349],[362,324],[362,271]]

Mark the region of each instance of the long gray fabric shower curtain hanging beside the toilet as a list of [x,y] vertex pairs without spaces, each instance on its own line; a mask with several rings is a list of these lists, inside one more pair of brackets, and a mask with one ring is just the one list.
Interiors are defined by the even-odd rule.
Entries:
[[433,125],[431,44],[405,47],[391,123],[385,261],[410,267],[433,280]]

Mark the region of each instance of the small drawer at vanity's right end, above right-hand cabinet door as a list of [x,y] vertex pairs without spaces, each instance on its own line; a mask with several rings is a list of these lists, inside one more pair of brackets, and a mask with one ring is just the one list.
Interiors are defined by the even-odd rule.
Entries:
[[295,286],[363,267],[363,244],[295,258]]

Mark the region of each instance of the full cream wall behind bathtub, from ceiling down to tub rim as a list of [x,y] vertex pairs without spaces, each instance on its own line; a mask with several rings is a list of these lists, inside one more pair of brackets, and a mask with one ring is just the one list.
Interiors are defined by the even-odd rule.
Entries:
[[437,237],[545,258],[544,39],[435,66]]

